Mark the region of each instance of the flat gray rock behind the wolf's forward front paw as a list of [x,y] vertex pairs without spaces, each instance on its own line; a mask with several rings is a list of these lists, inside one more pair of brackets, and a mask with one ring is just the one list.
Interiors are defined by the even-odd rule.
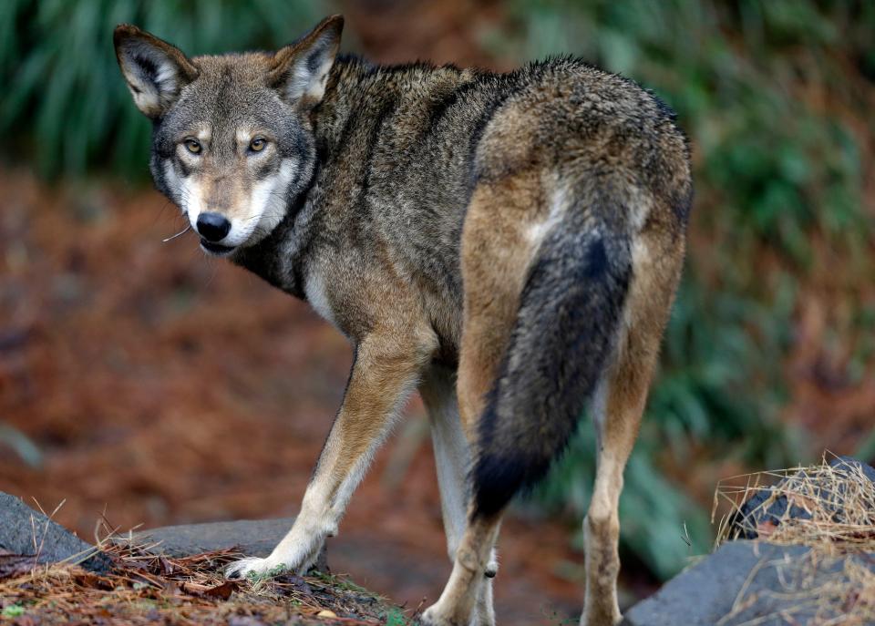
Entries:
[[[293,521],[294,518],[240,519],[165,526],[142,530],[135,533],[133,539],[139,546],[146,545],[150,551],[170,557],[187,557],[212,550],[235,548],[247,556],[263,558],[271,553],[273,547],[292,528]],[[119,537],[117,540],[127,538]],[[324,549],[314,567],[316,570],[328,571]]]

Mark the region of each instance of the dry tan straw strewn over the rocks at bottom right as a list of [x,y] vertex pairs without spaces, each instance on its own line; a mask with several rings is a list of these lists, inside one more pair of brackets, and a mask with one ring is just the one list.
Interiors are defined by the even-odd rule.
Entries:
[[[763,492],[767,498],[743,513],[743,504]],[[781,498],[786,498],[784,513],[767,516]],[[760,561],[739,591],[732,611],[718,622],[720,626],[875,623],[875,559],[871,555],[875,551],[875,484],[860,467],[830,467],[824,457],[817,466],[726,478],[715,491],[712,521],[721,508],[726,512],[718,524],[718,546],[757,536],[810,550],[797,559]],[[804,517],[798,517],[800,513]],[[768,568],[776,570],[779,589],[750,591],[750,583]],[[763,603],[780,609],[767,614],[748,611]]]

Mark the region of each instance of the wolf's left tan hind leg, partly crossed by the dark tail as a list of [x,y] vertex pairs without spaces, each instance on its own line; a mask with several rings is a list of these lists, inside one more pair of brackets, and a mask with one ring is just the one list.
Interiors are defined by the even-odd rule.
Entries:
[[[464,316],[458,364],[458,408],[472,451],[479,418],[493,387],[510,333],[533,250],[527,231],[537,218],[540,177],[529,173],[474,193],[462,232]],[[468,470],[468,467],[466,467]],[[467,522],[453,549],[453,570],[438,602],[423,615],[430,625],[494,623],[492,580],[500,515]],[[473,618],[473,621],[472,621]]]

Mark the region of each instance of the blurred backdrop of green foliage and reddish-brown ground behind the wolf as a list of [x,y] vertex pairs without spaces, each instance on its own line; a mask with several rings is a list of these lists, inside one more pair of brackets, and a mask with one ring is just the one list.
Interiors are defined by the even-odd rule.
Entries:
[[[571,53],[650,87],[693,145],[685,279],[621,502],[623,601],[710,547],[715,482],[875,458],[875,4],[0,3],[0,489],[86,538],[291,515],[351,350],[302,304],[206,259],[149,190],[149,122],[118,73],[132,22],[190,55],[282,46],[507,70]],[[415,607],[448,575],[418,401],[329,543]],[[592,427],[505,525],[505,623],[578,610]]]

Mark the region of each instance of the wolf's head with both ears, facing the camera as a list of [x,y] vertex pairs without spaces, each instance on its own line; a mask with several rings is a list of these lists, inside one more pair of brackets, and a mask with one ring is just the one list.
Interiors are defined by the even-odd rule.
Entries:
[[310,112],[322,100],[344,19],[324,19],[271,53],[196,56],[117,26],[118,66],[153,122],[156,186],[187,215],[201,248],[227,256],[283,221],[314,174]]

